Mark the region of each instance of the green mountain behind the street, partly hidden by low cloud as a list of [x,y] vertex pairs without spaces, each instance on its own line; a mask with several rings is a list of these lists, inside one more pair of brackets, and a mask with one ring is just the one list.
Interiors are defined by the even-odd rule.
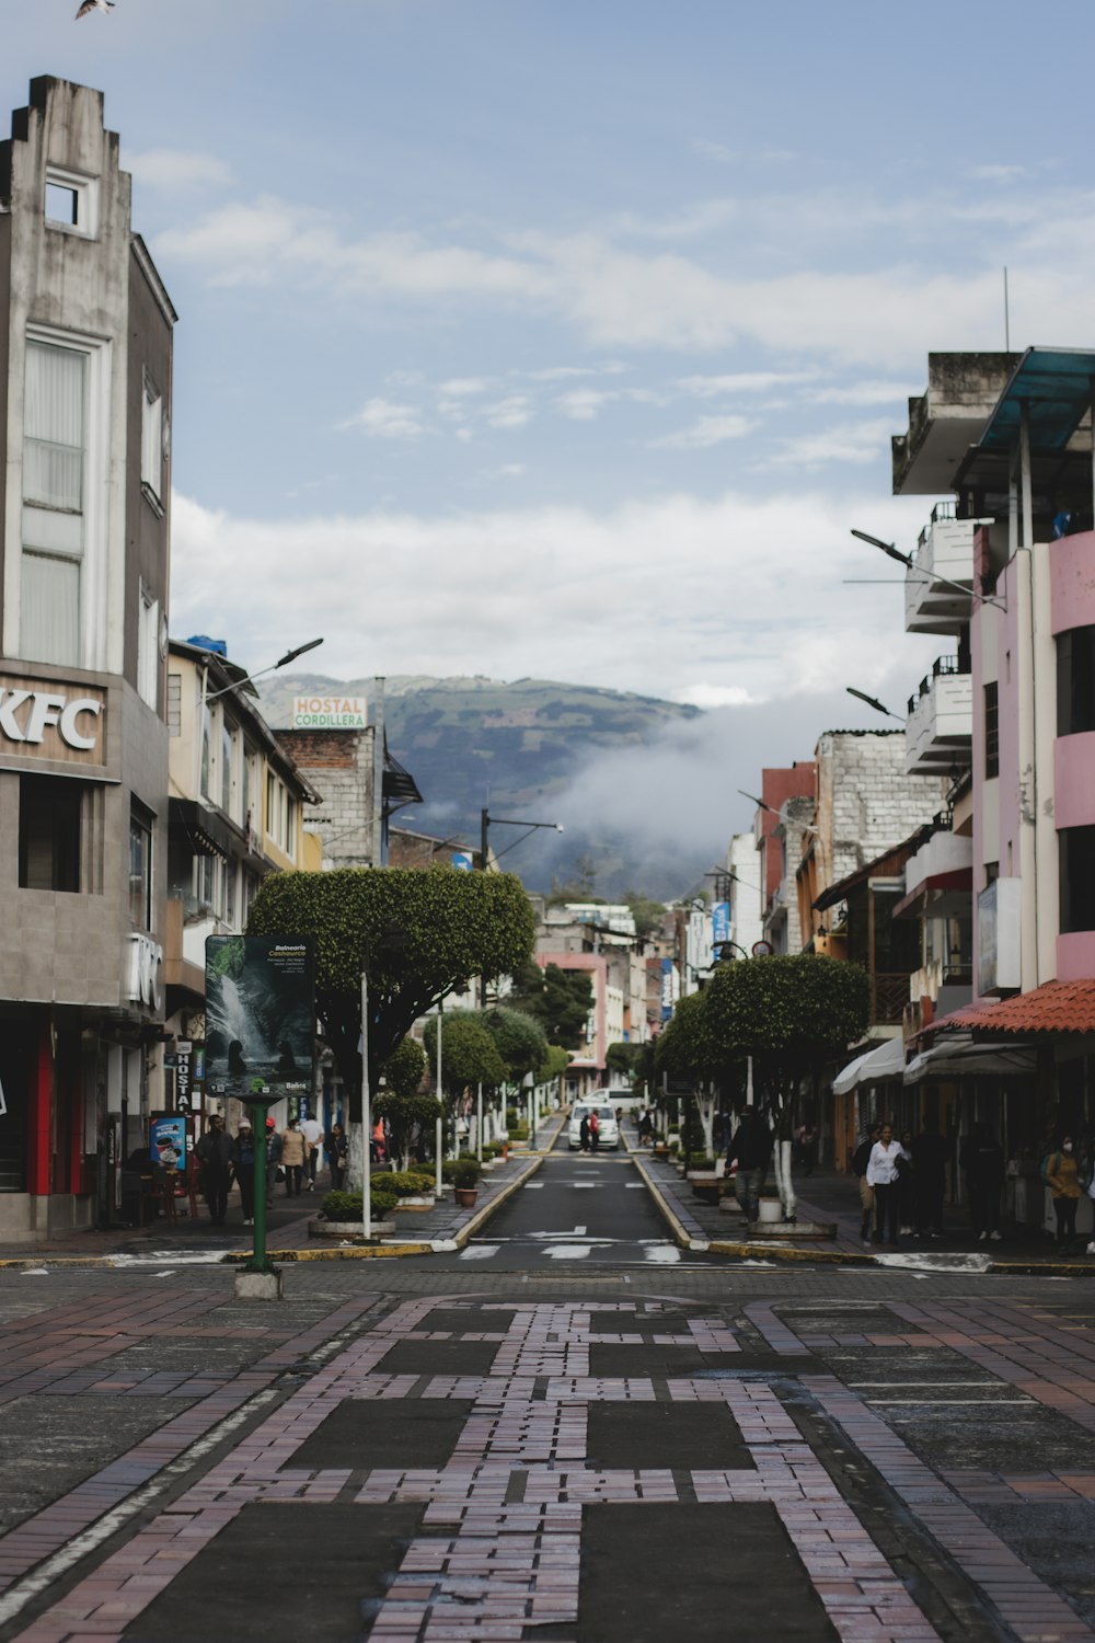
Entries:
[[[299,695],[363,695],[371,679],[335,680],[320,674],[292,674],[263,683],[263,715],[274,728],[289,725],[292,698]],[[402,812],[412,828],[443,838],[479,841],[479,812],[493,817],[529,815],[555,822],[566,813],[563,840],[537,831],[514,849],[511,863],[530,889],[547,891],[552,877],[570,877],[580,858],[593,859],[601,895],[619,894],[642,869],[629,861],[627,841],[607,838],[596,825],[568,813],[566,795],[581,772],[607,754],[640,748],[671,734],[675,725],[701,716],[701,710],[657,697],[591,685],[565,685],[548,679],[430,679],[404,675],[384,685],[387,746],[404,764],[425,803]],[[399,825],[399,822],[396,822]],[[501,828],[491,846],[502,851],[520,828]],[[680,894],[686,886],[650,894]]]

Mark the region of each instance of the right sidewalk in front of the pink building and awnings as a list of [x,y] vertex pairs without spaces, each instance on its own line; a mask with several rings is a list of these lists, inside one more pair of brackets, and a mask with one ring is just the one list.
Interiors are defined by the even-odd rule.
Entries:
[[[653,1158],[630,1142],[629,1150],[647,1175],[655,1198],[663,1201],[670,1226],[678,1226],[673,1236],[685,1247],[711,1249],[712,1254],[734,1254],[754,1259],[813,1260],[822,1263],[849,1263],[870,1267],[921,1267],[923,1270],[978,1270],[978,1272],[1061,1272],[1095,1273],[1095,1255],[1088,1255],[1087,1240],[1077,1240],[1070,1254],[1059,1254],[1049,1234],[1028,1227],[1005,1227],[998,1242],[978,1242],[969,1226],[967,1211],[944,1208],[946,1236],[941,1239],[901,1239],[898,1250],[878,1247],[864,1249],[860,1239],[859,1183],[850,1175],[819,1170],[811,1176],[796,1176],[798,1219],[836,1222],[836,1237],[762,1237],[749,1236],[744,1214],[732,1193],[708,1204],[699,1199],[691,1183],[678,1175],[671,1163]],[[772,1185],[772,1183],[770,1183]]]

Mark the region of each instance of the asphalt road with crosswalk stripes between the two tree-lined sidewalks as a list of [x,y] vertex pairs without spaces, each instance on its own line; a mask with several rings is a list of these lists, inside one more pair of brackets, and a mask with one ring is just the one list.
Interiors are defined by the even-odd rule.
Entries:
[[530,1181],[458,1255],[428,1267],[525,1272],[563,1265],[675,1267],[704,1263],[680,1250],[624,1150],[570,1152],[566,1129]]

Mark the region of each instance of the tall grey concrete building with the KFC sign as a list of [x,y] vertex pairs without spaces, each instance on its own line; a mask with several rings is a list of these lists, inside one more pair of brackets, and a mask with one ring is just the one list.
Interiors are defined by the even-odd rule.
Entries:
[[176,312],[99,92],[0,143],[0,1240],[107,1219],[163,1050]]

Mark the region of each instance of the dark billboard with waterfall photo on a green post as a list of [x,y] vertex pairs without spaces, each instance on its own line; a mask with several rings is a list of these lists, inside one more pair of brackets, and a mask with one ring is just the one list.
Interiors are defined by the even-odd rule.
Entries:
[[205,941],[205,1088],[218,1096],[312,1089],[315,966],[310,941],[210,935]]

